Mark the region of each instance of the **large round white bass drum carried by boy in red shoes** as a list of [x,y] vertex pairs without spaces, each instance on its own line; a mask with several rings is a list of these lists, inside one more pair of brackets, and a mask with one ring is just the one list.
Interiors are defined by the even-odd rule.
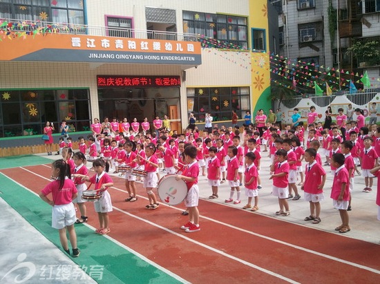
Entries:
[[175,180],[175,174],[167,174],[158,182],[158,196],[169,205],[180,204],[187,196],[187,185],[180,179]]

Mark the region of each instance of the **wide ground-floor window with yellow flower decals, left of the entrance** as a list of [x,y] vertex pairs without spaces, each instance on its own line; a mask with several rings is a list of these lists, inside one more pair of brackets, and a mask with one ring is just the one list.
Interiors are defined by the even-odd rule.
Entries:
[[0,136],[41,134],[46,121],[89,130],[88,90],[0,90]]

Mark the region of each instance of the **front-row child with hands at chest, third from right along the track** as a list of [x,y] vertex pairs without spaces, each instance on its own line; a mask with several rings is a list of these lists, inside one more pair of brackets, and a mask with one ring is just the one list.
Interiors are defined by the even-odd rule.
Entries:
[[287,153],[281,149],[276,152],[276,159],[270,166],[272,175],[269,179],[273,179],[272,194],[278,198],[278,205],[280,210],[276,212],[276,215],[289,216],[289,204],[287,203],[287,197],[289,196],[289,185],[287,176],[289,174],[289,164],[286,161]]

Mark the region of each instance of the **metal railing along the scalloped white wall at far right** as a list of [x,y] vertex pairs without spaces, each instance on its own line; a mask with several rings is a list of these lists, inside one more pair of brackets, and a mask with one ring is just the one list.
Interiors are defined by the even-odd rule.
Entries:
[[294,108],[298,103],[301,101],[301,99],[311,99],[313,103],[318,105],[321,108],[327,107],[327,105],[330,105],[332,101],[334,101],[336,96],[342,96],[345,95],[347,99],[349,99],[352,103],[355,105],[365,105],[369,103],[377,94],[379,94],[380,88],[376,89],[365,89],[361,91],[354,92],[354,94],[350,94],[350,91],[339,91],[332,93],[331,96],[327,96],[326,94],[323,94],[323,96],[316,96],[315,94],[305,94],[304,96],[297,96],[292,99],[284,99],[283,105],[285,105],[287,108]]

